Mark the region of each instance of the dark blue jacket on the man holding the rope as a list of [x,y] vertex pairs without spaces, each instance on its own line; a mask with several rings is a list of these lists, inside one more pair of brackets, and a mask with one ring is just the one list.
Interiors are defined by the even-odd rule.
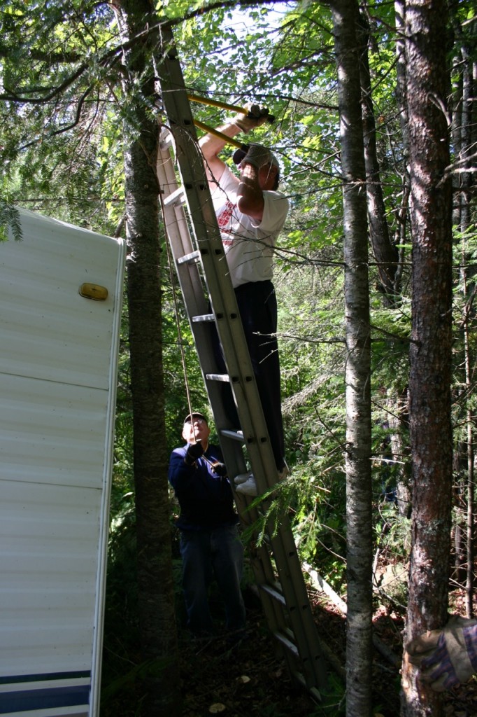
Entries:
[[[188,445],[175,448],[169,462],[169,483],[180,505],[178,527],[200,531],[235,525],[238,516],[228,478],[214,473],[203,457],[196,460],[196,465],[187,465],[184,456]],[[204,455],[212,462],[223,460],[218,446],[208,445]]]

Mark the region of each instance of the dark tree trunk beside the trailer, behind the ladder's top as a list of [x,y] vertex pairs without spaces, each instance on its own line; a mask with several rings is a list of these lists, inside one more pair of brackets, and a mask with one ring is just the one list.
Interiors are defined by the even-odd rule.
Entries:
[[[124,0],[117,16],[124,39],[158,24],[150,0]],[[140,640],[143,660],[155,660],[145,679],[143,714],[148,717],[181,713],[165,442],[158,125],[148,114],[155,101],[152,56],[157,44],[151,33],[124,58],[125,101],[133,110],[125,123],[126,136],[133,139],[124,156]]]

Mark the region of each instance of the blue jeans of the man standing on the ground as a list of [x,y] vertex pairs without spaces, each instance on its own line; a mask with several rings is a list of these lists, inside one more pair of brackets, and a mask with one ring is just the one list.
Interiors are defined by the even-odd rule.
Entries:
[[216,579],[226,609],[228,630],[245,627],[245,605],[240,590],[244,546],[237,526],[201,531],[180,531],[183,591],[187,627],[192,632],[213,632],[208,588]]

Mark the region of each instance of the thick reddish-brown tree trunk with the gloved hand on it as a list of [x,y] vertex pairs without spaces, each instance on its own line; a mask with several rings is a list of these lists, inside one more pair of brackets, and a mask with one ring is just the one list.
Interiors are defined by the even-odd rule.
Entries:
[[[442,627],[448,607],[452,206],[448,69],[443,0],[406,3],[406,60],[413,230],[410,446],[413,523],[406,640]],[[401,714],[442,715],[440,696],[403,662]]]

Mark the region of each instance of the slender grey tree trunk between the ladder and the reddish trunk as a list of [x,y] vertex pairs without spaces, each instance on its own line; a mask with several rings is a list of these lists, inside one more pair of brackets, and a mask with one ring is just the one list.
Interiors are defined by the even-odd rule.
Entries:
[[347,406],[347,715],[371,713],[372,526],[370,307],[365,159],[355,0],[331,4],[344,206]]

